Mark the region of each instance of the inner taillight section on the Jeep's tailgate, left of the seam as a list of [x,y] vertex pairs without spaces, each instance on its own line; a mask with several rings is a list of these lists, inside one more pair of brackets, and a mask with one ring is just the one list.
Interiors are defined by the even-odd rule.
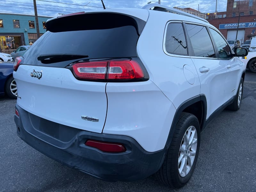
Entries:
[[107,61],[76,63],[72,67],[77,78],[105,79],[107,63]]

